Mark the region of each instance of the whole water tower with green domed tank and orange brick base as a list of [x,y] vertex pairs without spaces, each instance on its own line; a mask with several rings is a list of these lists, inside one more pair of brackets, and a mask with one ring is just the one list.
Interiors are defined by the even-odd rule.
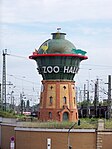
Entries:
[[37,62],[42,75],[39,119],[42,121],[77,121],[78,110],[74,76],[86,52],[65,39],[65,33],[52,33],[29,58]]

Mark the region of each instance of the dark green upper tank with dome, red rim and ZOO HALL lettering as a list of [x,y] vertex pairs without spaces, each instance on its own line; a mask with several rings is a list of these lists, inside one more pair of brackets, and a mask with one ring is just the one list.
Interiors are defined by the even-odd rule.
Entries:
[[43,80],[73,80],[79,70],[80,62],[87,59],[86,51],[76,47],[65,39],[65,33],[52,33],[52,39],[46,40],[30,56],[37,62],[37,70]]

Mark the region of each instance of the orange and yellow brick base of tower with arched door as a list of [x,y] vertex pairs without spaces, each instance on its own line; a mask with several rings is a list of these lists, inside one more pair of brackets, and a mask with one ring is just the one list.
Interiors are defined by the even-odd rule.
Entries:
[[43,80],[40,96],[41,121],[77,121],[78,110],[74,81]]

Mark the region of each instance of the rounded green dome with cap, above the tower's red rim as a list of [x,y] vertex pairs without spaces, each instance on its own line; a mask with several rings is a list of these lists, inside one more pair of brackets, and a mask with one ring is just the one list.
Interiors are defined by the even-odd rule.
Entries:
[[46,40],[38,50],[39,54],[72,54],[73,49],[76,47],[68,40],[65,39],[65,33],[52,33],[52,39]]

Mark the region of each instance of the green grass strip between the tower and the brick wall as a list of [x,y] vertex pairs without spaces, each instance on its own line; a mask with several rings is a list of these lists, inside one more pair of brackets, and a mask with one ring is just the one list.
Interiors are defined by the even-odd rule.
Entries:
[[[16,118],[21,122],[22,127],[34,127],[34,128],[56,128],[56,129],[68,129],[70,128],[74,122],[57,122],[57,121],[48,121],[48,122],[40,122],[37,119],[33,118],[32,122],[31,117],[27,117],[24,115],[17,115],[12,111],[1,111],[0,110],[0,116],[5,118]],[[112,119],[110,120],[104,120],[105,121],[105,128],[106,129],[112,129]],[[74,128],[76,129],[96,129],[98,123],[98,118],[81,118],[80,119],[80,126],[76,123],[74,125]]]

